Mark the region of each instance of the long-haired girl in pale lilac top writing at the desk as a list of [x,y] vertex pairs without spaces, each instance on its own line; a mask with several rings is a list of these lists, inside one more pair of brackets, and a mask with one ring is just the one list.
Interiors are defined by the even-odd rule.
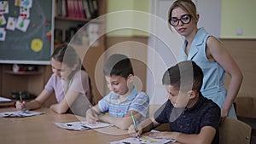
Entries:
[[85,117],[92,101],[90,78],[76,50],[66,44],[57,47],[51,55],[51,67],[53,74],[41,94],[33,101],[17,101],[16,108],[24,111],[38,109],[55,94],[57,103],[49,107],[51,110]]

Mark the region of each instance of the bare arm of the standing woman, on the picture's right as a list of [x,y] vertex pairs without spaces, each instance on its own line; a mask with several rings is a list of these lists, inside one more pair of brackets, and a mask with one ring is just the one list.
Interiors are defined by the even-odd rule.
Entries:
[[207,56],[209,60],[217,61],[224,68],[224,71],[230,75],[228,92],[224,104],[221,107],[221,118],[224,120],[236,99],[243,76],[239,66],[237,66],[236,61],[232,58],[228,50],[224,49],[223,44],[214,37],[207,39]]

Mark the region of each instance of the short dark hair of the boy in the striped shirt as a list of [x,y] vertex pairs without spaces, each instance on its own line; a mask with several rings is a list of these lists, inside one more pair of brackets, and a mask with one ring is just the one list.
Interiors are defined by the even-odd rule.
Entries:
[[131,60],[126,55],[114,54],[106,61],[103,69],[105,76],[121,76],[128,78],[130,74],[134,75],[131,66]]

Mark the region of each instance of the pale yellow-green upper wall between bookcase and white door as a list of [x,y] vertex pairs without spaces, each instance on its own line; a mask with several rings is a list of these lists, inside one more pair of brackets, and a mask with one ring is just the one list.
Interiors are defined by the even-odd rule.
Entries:
[[[136,11],[149,12],[150,0],[108,0],[108,14],[107,16],[107,32],[108,37],[116,36],[148,36],[148,32],[135,30],[128,27],[143,27],[143,30],[148,31],[149,20],[148,17],[139,16]],[[129,10],[130,12],[128,12]],[[127,13],[125,13],[127,11]],[[131,13],[133,11],[133,13]],[[120,12],[120,13],[119,13]],[[114,14],[112,17],[112,13]],[[119,26],[124,26],[121,30],[113,31]],[[125,28],[125,26],[127,28]],[[109,32],[111,31],[111,32]]]

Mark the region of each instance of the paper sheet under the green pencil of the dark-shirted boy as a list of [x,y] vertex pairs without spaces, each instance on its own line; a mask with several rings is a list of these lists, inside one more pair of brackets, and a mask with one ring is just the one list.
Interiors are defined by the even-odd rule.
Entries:
[[134,138],[134,137],[129,137],[129,138],[125,138],[123,140],[119,140],[119,141],[112,141],[110,142],[110,144],[169,144],[169,143],[174,143],[176,141],[174,140],[167,140],[167,139],[154,139],[152,137],[143,135],[142,137],[140,137],[139,139]]

